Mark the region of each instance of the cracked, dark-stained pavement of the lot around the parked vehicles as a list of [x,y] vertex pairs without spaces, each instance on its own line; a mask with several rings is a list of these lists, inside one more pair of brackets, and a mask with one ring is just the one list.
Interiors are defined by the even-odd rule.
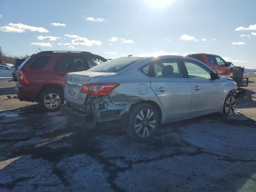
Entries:
[[0,80],[0,191],[255,192],[256,76],[247,76],[234,116],[165,124],[149,142],[42,112]]

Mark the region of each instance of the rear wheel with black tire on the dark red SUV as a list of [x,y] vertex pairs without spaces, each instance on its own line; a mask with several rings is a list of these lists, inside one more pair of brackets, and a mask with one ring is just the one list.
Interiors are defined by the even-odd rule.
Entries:
[[[59,97],[59,99],[54,100],[54,104],[52,104],[52,108],[50,108],[50,103],[45,103],[45,99],[49,99],[49,94],[52,94],[53,96],[53,100],[54,98],[56,98],[55,96],[57,95]],[[64,103],[64,95],[63,92],[59,89],[56,88],[48,88],[46,90],[44,90],[38,100],[38,103],[40,105],[40,107],[47,112],[54,112],[54,111],[58,111],[60,110],[60,104]],[[55,104],[58,103],[58,104]]]

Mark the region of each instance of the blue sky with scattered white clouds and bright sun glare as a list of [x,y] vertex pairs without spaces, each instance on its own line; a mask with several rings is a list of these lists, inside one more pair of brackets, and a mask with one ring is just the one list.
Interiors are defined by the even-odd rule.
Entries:
[[0,0],[0,46],[105,58],[206,52],[256,68],[255,8],[255,0]]

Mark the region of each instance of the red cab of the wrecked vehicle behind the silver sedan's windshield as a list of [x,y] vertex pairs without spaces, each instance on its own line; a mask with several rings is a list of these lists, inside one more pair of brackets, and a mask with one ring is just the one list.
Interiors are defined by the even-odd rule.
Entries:
[[210,68],[215,70],[220,75],[229,75],[230,65],[231,62],[226,62],[218,55],[207,54],[207,53],[196,53],[196,54],[189,54],[188,57],[192,57],[204,62]]

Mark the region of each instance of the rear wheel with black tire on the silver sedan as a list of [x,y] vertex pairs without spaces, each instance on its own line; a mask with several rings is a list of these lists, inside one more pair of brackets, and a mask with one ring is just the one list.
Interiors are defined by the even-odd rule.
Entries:
[[[144,120],[140,120],[139,118],[137,118],[137,116],[139,116],[140,118],[142,117],[142,115],[139,114],[141,111],[142,111],[142,114],[144,115]],[[153,112],[152,116],[150,116],[151,112]],[[147,118],[147,117],[150,117],[150,118]],[[150,123],[150,122],[154,122],[154,123]],[[135,123],[137,123],[136,124],[137,127],[135,127]],[[138,126],[140,124],[142,125],[142,127]],[[131,107],[127,116],[127,122],[126,122],[126,128],[125,128],[126,133],[131,138],[139,141],[148,140],[152,138],[152,136],[154,135],[158,127],[159,127],[159,114],[153,106],[149,104],[136,104]]]

